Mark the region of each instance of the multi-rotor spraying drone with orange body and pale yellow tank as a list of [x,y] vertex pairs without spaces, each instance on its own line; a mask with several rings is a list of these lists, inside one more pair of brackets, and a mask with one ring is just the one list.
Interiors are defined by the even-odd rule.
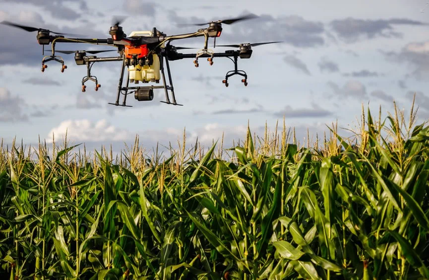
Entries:
[[[96,76],[91,75],[91,69],[94,63],[96,62],[114,62],[122,61],[122,70],[118,82],[118,90],[116,101],[114,103],[109,103],[115,106],[123,107],[132,107],[126,105],[126,97],[128,94],[134,93],[134,98],[137,101],[152,101],[154,94],[154,89],[164,89],[165,91],[165,101],[161,101],[166,104],[179,105],[176,101],[173,80],[170,71],[169,61],[182,60],[187,58],[193,58],[194,66],[198,67],[199,58],[207,58],[207,61],[210,65],[213,65],[214,58],[229,58],[234,63],[234,70],[228,71],[225,75],[225,79],[222,80],[222,83],[228,87],[228,78],[233,75],[240,75],[243,77],[242,82],[247,86],[247,74],[244,70],[238,70],[238,58],[240,59],[249,59],[252,55],[252,47],[264,44],[273,44],[281,43],[280,41],[276,42],[262,42],[262,43],[244,43],[244,44],[234,44],[234,45],[218,45],[218,47],[232,47],[238,48],[235,50],[227,50],[224,53],[215,53],[213,50],[208,49],[208,39],[214,38],[213,47],[216,47],[216,38],[220,37],[222,34],[222,24],[233,24],[238,21],[248,20],[255,18],[255,15],[248,14],[245,16],[210,21],[207,23],[192,23],[184,25],[195,25],[195,26],[204,26],[208,27],[200,28],[196,32],[171,35],[167,36],[165,33],[159,31],[156,27],[152,31],[132,31],[128,36],[123,32],[122,26],[120,26],[120,20],[114,20],[112,26],[110,27],[109,34],[111,38],[107,39],[84,39],[84,38],[66,38],[67,33],[53,32],[48,29],[36,28],[31,26],[24,26],[9,21],[2,21],[1,24],[6,24],[13,27],[18,27],[28,32],[37,31],[36,39],[39,45],[43,46],[43,55],[45,55],[45,46],[52,45],[52,54],[44,56],[42,59],[42,72],[44,72],[48,66],[45,64],[49,61],[56,61],[61,63],[61,72],[67,69],[67,66],[64,64],[64,60],[61,56],[57,56],[56,53],[62,53],[66,55],[74,54],[74,60],[76,65],[86,65],[87,74],[82,78],[82,92],[86,91],[85,83],[87,81],[95,82],[95,90],[97,91],[101,84],[99,84]],[[54,35],[52,35],[54,34]],[[197,51],[195,54],[183,54],[179,53],[179,50],[184,49],[195,49],[187,47],[176,47],[171,45],[173,40],[180,40],[186,38],[194,37],[204,37],[204,48]],[[86,51],[86,50],[76,50],[76,51],[63,51],[55,50],[57,43],[86,43],[86,44],[95,44],[95,45],[106,45],[113,46],[116,49],[113,50],[99,50],[99,51]],[[118,56],[115,57],[97,57],[95,54],[117,51]],[[88,55],[89,54],[89,55]],[[125,68],[127,69],[127,77],[124,82],[124,72]],[[166,80],[165,68],[167,69],[168,83]],[[162,78],[163,85],[137,85],[139,82],[143,84],[147,83],[160,83]],[[130,86],[130,83],[134,83],[134,86]],[[169,91],[171,93],[171,99],[169,96]],[[120,103],[121,94],[123,95],[122,103]]]

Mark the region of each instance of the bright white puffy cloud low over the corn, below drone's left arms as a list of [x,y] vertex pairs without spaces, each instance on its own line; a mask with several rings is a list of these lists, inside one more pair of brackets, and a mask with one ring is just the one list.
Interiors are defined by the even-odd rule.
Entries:
[[56,139],[61,139],[66,133],[67,139],[77,142],[125,141],[132,137],[128,131],[116,128],[104,119],[95,123],[83,119],[62,121],[58,127],[49,132],[47,142],[52,142],[53,134]]

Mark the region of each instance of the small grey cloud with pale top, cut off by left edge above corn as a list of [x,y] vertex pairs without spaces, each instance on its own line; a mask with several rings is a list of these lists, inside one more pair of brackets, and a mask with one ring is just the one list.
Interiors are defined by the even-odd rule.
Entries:
[[10,91],[0,87],[0,122],[28,121],[28,116],[23,111],[25,101],[19,96],[12,96]]

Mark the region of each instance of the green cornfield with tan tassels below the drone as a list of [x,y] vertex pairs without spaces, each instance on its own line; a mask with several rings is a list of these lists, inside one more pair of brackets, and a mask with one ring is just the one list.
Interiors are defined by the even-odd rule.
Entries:
[[168,158],[1,144],[1,279],[429,279],[429,127],[364,112]]

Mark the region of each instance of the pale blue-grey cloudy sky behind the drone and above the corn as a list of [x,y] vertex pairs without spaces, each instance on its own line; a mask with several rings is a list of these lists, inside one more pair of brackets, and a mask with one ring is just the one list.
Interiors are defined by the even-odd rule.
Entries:
[[[198,27],[182,23],[254,14],[257,18],[223,24],[216,44],[282,41],[253,48],[252,57],[239,60],[248,85],[240,76],[222,80],[234,64],[205,59],[195,68],[193,59],[170,62],[176,99],[184,106],[161,103],[164,91],[155,90],[150,102],[128,96],[133,107],[115,107],[120,62],[96,63],[91,73],[102,87],[86,83],[85,66],[73,55],[63,55],[67,69],[48,62],[41,72],[42,47],[35,32],[0,25],[0,139],[15,138],[35,144],[61,142],[67,132],[71,143],[88,147],[139,143],[152,150],[182,141],[208,147],[224,134],[224,147],[243,140],[247,125],[263,137],[265,125],[295,128],[297,140],[312,142],[338,123],[340,135],[356,128],[362,105],[378,115],[393,113],[393,101],[409,112],[414,94],[419,107],[417,124],[429,117],[429,7],[423,0],[301,0],[301,1],[173,1],[145,0],[0,0],[0,21],[74,33],[82,38],[109,38],[116,17],[124,18],[123,30],[152,30],[167,35],[194,32]],[[203,48],[204,39],[172,42],[175,46]],[[209,48],[213,49],[213,41]],[[46,48],[49,49],[49,48]],[[45,49],[45,50],[46,50]],[[57,44],[57,50],[104,50],[108,46]],[[216,47],[223,53],[232,48]],[[46,54],[46,53],[45,53]],[[49,54],[49,53],[48,53]],[[116,52],[98,57],[115,56]],[[344,128],[344,130],[341,130]]]

